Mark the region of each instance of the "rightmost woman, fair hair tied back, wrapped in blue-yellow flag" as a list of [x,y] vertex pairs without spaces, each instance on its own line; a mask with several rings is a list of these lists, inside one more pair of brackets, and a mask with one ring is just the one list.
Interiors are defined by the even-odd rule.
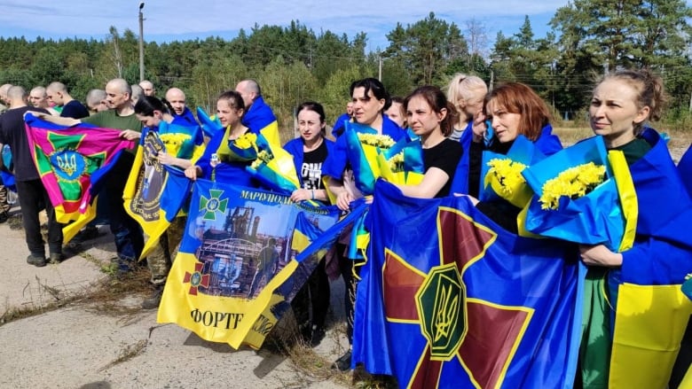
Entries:
[[579,246],[587,282],[602,286],[586,300],[578,387],[665,387],[688,323],[680,284],[692,273],[692,201],[664,140],[645,126],[663,103],[663,82],[648,70],[606,75],[591,99],[591,128],[624,153],[638,214],[631,248]]

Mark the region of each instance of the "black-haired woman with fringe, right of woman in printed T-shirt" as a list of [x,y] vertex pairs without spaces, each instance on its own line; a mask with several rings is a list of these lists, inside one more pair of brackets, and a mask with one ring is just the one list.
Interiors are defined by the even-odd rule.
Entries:
[[[384,139],[389,137],[391,141],[397,142],[405,137],[405,131],[397,126],[397,123],[390,121],[389,118],[383,115],[383,112],[391,105],[389,93],[384,89],[381,82],[374,78],[366,78],[353,82],[350,85],[350,95],[353,101],[353,119],[360,128],[369,128],[374,137]],[[328,188],[334,196],[334,204],[340,209],[346,211],[349,209],[351,201],[363,197],[363,195],[372,195],[372,188],[364,187],[363,180],[358,180],[354,177],[352,168],[361,161],[350,160],[353,158],[353,153],[348,152],[349,144],[347,143],[348,131],[353,131],[347,128],[343,134],[336,139],[334,151],[331,152],[325,163],[322,165],[322,174],[329,177]],[[366,142],[363,139],[362,142]],[[339,257],[339,265],[343,276],[346,291],[344,303],[346,307],[347,317],[347,335],[349,344],[353,340],[353,297],[354,297],[354,278],[353,268],[354,261],[346,257],[344,253],[346,245],[337,244],[336,253]],[[350,350],[342,355],[334,365],[339,370],[350,369]]]

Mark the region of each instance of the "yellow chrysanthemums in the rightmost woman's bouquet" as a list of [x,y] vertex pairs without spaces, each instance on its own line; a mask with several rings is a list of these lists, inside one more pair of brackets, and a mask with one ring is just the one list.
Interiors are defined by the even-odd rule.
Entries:
[[562,196],[576,199],[586,196],[605,180],[605,167],[589,162],[570,167],[543,184],[539,198],[542,209],[557,209]]

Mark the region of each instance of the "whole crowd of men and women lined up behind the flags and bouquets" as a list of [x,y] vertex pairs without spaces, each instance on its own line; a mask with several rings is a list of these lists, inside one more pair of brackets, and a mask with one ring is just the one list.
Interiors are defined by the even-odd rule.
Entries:
[[[0,97],[10,109],[0,116],[0,143],[10,144],[15,158],[14,174],[20,195],[20,206],[27,244],[31,252],[28,263],[35,266],[45,264],[43,240],[35,214],[43,206],[53,220],[49,222],[50,259],[61,260],[62,236],[60,226],[54,221],[54,211],[43,189],[43,185],[30,160],[23,114],[34,111],[39,117],[60,124],[74,125],[80,121],[102,128],[121,129],[121,136],[130,140],[140,139],[142,131],[156,131],[161,121],[182,126],[196,126],[197,122],[185,106],[185,94],[180,89],[169,89],[165,100],[153,96],[151,82],[141,82],[142,96],[133,103],[130,85],[122,79],[106,84],[105,97],[87,98],[89,108],[79,107],[70,97],[65,85],[51,83],[47,88],[31,91],[28,106],[26,93],[21,87],[3,89]],[[91,92],[90,92],[91,95]],[[95,92],[95,96],[96,96]],[[100,99],[98,99],[100,98]],[[97,102],[98,100],[98,102]],[[48,102],[49,104],[46,104]],[[55,106],[51,106],[50,103]],[[647,180],[660,174],[649,161],[657,153],[657,163],[664,158],[672,164],[670,155],[661,154],[664,141],[647,123],[661,116],[664,103],[663,83],[655,74],[645,70],[625,70],[604,76],[591,98],[589,106],[590,125],[596,136],[602,136],[608,150],[624,152],[629,165],[639,201],[639,223],[633,248],[616,253],[606,245],[579,245],[581,261],[596,277],[610,277],[626,282],[631,274],[649,272],[652,283],[657,279],[659,268],[680,268],[680,275],[692,273],[692,246],[682,235],[684,231],[666,231],[658,234],[653,226],[661,225],[662,215],[657,207],[647,201],[675,203],[689,207],[689,196],[685,192],[672,193],[651,189]],[[62,107],[62,114],[55,116],[51,109]],[[103,109],[107,108],[107,109]],[[513,233],[519,230],[517,215],[520,209],[502,198],[479,201],[479,191],[484,177],[484,152],[507,154],[518,136],[524,136],[545,155],[562,149],[557,136],[552,133],[551,116],[547,104],[529,86],[519,82],[507,82],[488,91],[479,77],[457,74],[452,78],[446,93],[436,86],[421,86],[406,97],[389,97],[382,83],[374,78],[358,80],[350,85],[350,101],[347,113],[334,122],[330,136],[326,134],[326,114],[317,102],[304,102],[296,109],[299,136],[288,141],[284,148],[294,157],[295,169],[301,187],[290,194],[293,201],[317,200],[324,204],[332,202],[342,211],[348,212],[354,200],[376,195],[371,188],[362,187],[354,179],[347,152],[346,136],[349,122],[358,123],[374,130],[379,135],[389,136],[393,141],[403,138],[419,139],[422,149],[424,172],[420,183],[397,184],[405,196],[413,198],[442,198],[465,196],[491,221]],[[90,115],[90,113],[92,113]],[[176,158],[161,153],[162,164],[176,165],[185,170],[191,180],[198,178],[257,186],[247,167],[251,161],[239,161],[229,156],[228,144],[249,133],[259,131],[276,117],[263,101],[261,89],[254,80],[243,80],[234,90],[222,93],[216,101],[216,118],[223,130],[205,138],[200,158]],[[661,156],[663,155],[663,157]],[[121,158],[112,169],[105,199],[108,222],[115,238],[119,265],[127,271],[134,266],[144,245],[144,237],[137,222],[124,211],[122,193],[130,174],[134,154]],[[692,177],[664,177],[675,185]],[[674,186],[674,185],[673,185]],[[333,196],[330,196],[333,195]],[[2,198],[0,198],[1,200]],[[614,205],[603,205],[614,206]],[[1,211],[1,210],[0,210]],[[6,211],[4,211],[6,212]],[[161,250],[148,257],[152,269],[152,281],[156,290],[144,307],[157,307],[161,291],[170,268],[170,253],[182,238],[185,219],[174,222],[166,239],[161,239]],[[344,304],[346,307],[349,341],[353,335],[353,305],[357,282],[358,258],[352,258],[348,250],[350,239],[342,237],[336,244],[338,268],[346,285]],[[661,253],[666,253],[662,255]],[[609,271],[604,271],[608,269]],[[614,278],[613,278],[614,277]],[[679,282],[681,279],[665,282]],[[296,299],[295,307],[311,306],[311,315],[303,315],[304,334],[311,344],[318,344],[324,337],[326,313],[329,307],[329,282],[325,261],[309,279],[304,293],[307,297]],[[606,315],[607,317],[608,315]],[[350,351],[334,362],[339,370],[351,367]],[[579,385],[591,385],[587,378],[578,378]]]

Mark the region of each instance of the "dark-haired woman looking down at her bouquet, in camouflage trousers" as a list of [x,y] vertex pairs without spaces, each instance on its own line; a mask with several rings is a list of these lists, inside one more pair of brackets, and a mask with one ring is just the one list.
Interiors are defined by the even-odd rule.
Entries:
[[[139,144],[145,148],[147,146],[151,148],[152,144],[161,145],[158,151],[146,150],[143,153],[144,159],[155,158],[161,165],[185,169],[191,167],[193,160],[200,157],[204,139],[199,126],[190,126],[188,121],[180,119],[179,116],[174,117],[170,114],[171,112],[172,108],[164,105],[156,97],[140,97],[135,105],[135,115],[144,126]],[[153,136],[154,133],[158,137]],[[153,172],[155,169],[151,162],[145,160],[145,169]],[[151,191],[153,188],[146,184],[148,176],[145,174],[144,177],[145,188]],[[151,282],[154,291],[142,302],[142,307],[145,309],[159,307],[163,286],[169,275],[172,253],[183,238],[186,219],[185,216],[177,216],[168,229],[161,234],[158,244],[146,254],[146,264],[152,273]]]

